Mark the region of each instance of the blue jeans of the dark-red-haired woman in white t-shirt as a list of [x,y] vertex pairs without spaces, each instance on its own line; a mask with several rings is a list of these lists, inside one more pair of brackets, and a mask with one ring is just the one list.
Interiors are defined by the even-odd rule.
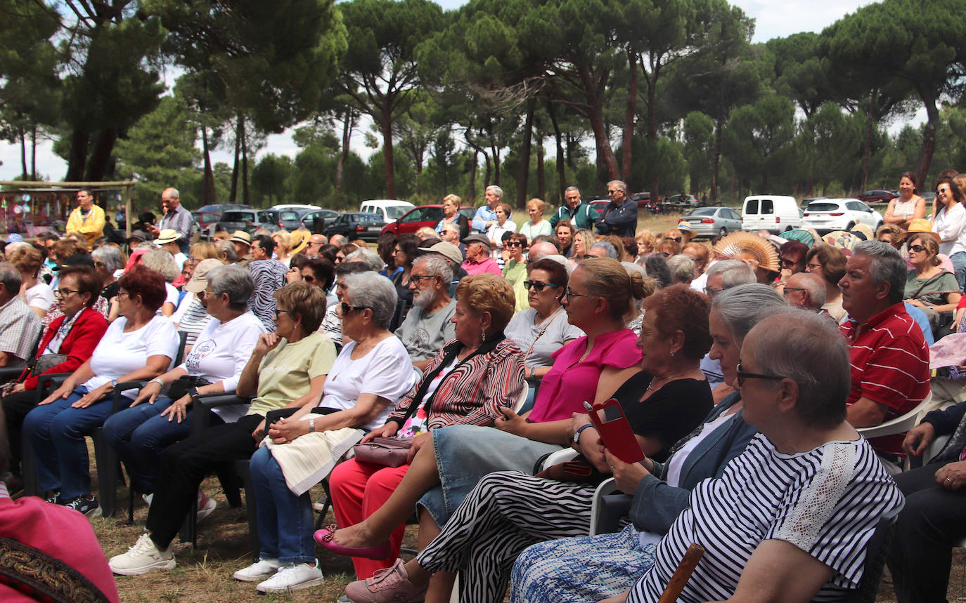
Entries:
[[66,399],[56,399],[27,413],[23,434],[37,458],[41,491],[61,490],[67,501],[91,493],[91,470],[84,436],[94,433],[111,414],[111,398],[87,408],[71,404],[87,393],[77,388]]

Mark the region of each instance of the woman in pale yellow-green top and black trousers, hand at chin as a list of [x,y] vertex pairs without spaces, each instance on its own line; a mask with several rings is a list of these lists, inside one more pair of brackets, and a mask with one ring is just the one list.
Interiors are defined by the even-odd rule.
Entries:
[[238,394],[254,399],[241,405],[245,414],[238,421],[208,427],[161,452],[147,532],[127,553],[111,559],[115,573],[139,575],[173,568],[170,544],[191,511],[201,480],[220,465],[249,458],[258,449],[267,413],[296,409],[322,395],[335,360],[335,346],[317,333],[326,312],[325,293],[293,283],[275,291],[275,300],[276,330],[259,337],[239,377]]

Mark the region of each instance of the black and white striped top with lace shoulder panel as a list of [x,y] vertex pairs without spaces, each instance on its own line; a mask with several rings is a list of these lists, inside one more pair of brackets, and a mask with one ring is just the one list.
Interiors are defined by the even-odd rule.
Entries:
[[832,567],[832,579],[812,600],[838,600],[858,587],[867,541],[880,516],[901,501],[864,439],[784,454],[759,433],[721,478],[697,484],[691,507],[674,520],[628,601],[657,601],[692,542],[705,553],[678,600],[727,599],[754,549],[769,539]]

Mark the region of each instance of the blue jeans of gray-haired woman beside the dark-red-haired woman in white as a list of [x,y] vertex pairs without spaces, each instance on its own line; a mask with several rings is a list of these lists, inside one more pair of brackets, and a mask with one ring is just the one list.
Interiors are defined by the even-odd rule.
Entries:
[[191,432],[191,411],[178,423],[160,414],[171,405],[167,397],[154,404],[142,402],[126,408],[104,422],[104,436],[128,468],[128,475],[142,492],[155,491],[161,452]]

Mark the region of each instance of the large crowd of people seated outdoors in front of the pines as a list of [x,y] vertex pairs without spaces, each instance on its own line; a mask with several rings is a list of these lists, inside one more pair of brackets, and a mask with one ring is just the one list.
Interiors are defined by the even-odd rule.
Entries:
[[[706,553],[683,600],[833,600],[857,588],[865,543],[904,495],[916,504],[898,515],[895,589],[931,600],[966,535],[944,510],[966,485],[963,412],[942,408],[966,397],[954,339],[966,330],[966,178],[940,176],[931,214],[906,180],[878,233],[710,245],[686,220],[633,237],[595,226],[577,189],[551,222],[538,199],[513,219],[498,187],[471,225],[449,198],[435,230],[384,234],[378,249],[304,230],[192,244],[173,189],[127,245],[9,237],[10,494],[29,477],[45,504],[97,514],[85,436],[102,428],[148,504],[145,533],[106,551],[109,567],[139,575],[175,566],[185,517],[216,507],[205,477],[249,459],[260,551],[234,578],[262,593],[316,587],[322,548],[352,558],[345,597],[366,602],[448,600],[457,575],[468,602],[508,588],[515,601],[657,600],[692,542]],[[937,375],[933,342],[962,350]],[[930,387],[939,410],[908,435],[859,436]],[[193,432],[208,395],[238,398]],[[588,416],[585,404],[611,398],[642,461],[613,454]],[[943,453],[899,475],[942,434]],[[379,446],[404,452],[394,464],[362,455]],[[543,463],[567,448],[577,457]],[[21,475],[23,454],[36,475]],[[633,497],[629,525],[587,536],[609,478]],[[323,480],[336,523],[315,531],[310,490]],[[413,509],[419,554],[405,562]]]

